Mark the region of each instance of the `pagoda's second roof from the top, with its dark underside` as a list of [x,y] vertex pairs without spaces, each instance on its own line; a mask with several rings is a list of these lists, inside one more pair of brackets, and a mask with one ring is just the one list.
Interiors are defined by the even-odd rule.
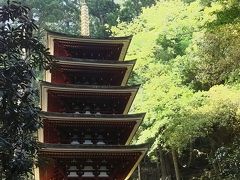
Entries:
[[[99,76],[106,76],[114,79],[114,85],[125,86],[135,65],[136,60],[131,61],[109,61],[109,60],[92,60],[92,59],[77,59],[68,57],[55,57],[56,70],[61,69],[68,72],[79,72]],[[55,68],[53,68],[53,71]],[[101,74],[102,73],[102,74]],[[105,81],[104,83],[107,83]]]

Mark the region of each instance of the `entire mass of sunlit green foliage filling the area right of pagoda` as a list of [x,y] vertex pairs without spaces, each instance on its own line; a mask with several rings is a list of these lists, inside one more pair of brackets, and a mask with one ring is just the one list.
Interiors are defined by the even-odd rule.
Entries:
[[[240,34],[230,10],[238,8],[234,2],[157,2],[131,23],[112,28],[114,35],[134,35],[127,58],[137,58],[137,64],[130,83],[142,87],[132,112],[147,112],[135,143],[149,142],[149,156],[156,159],[159,147],[177,150],[183,172],[204,159],[191,177],[238,177],[234,164],[240,159],[232,146],[240,135]],[[216,160],[221,147],[229,152],[227,160]],[[230,161],[233,171],[227,168]]]

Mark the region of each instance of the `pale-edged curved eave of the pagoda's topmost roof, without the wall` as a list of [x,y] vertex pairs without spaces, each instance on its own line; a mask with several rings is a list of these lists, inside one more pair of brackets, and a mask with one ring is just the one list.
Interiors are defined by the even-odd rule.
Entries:
[[99,45],[122,44],[123,47],[121,49],[121,53],[120,53],[118,60],[123,61],[125,59],[128,47],[132,40],[132,36],[98,39],[98,38],[91,38],[91,37],[68,35],[68,34],[63,34],[63,33],[47,30],[48,48],[49,48],[50,54],[52,54],[52,55],[53,55],[53,51],[54,51],[53,41],[55,39],[56,40],[73,41],[73,42],[83,42],[86,44],[87,43],[95,43],[95,44],[99,44]]

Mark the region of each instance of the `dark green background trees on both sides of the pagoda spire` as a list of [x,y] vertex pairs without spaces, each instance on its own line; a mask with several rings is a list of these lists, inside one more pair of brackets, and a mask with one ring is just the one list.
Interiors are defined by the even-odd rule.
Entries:
[[[19,0],[32,9],[31,16],[40,27],[36,32],[43,37],[45,29],[67,34],[80,34],[81,0]],[[120,6],[112,0],[87,0],[91,19],[91,36],[107,37],[117,24]],[[4,0],[0,0],[0,5]]]

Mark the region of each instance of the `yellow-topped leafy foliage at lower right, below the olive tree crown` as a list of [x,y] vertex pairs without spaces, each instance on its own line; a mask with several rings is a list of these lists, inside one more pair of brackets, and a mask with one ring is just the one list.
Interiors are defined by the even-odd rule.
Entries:
[[[211,137],[223,144],[231,141],[226,137],[238,128],[240,122],[238,89],[214,86],[209,91],[189,96],[187,105],[182,97],[179,101],[182,103],[179,107],[181,113],[178,119],[166,128],[167,132],[170,130],[170,134],[167,134],[165,141],[170,146],[184,148],[191,139],[199,137]],[[218,132],[221,128],[226,128],[224,133]]]

